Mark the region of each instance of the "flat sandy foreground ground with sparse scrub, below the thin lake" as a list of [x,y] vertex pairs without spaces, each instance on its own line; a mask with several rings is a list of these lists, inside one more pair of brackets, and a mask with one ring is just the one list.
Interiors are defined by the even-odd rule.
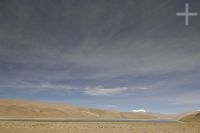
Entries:
[[0,121],[1,133],[200,133],[200,123]]

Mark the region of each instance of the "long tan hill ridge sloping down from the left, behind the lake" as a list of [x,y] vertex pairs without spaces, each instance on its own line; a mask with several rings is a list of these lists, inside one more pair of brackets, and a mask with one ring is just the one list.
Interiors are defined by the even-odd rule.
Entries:
[[156,119],[148,113],[116,112],[24,100],[0,100],[0,118]]

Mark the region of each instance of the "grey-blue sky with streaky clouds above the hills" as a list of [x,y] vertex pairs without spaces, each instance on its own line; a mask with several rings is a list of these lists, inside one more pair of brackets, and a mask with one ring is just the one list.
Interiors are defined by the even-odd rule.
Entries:
[[0,98],[200,109],[199,0],[1,0]]

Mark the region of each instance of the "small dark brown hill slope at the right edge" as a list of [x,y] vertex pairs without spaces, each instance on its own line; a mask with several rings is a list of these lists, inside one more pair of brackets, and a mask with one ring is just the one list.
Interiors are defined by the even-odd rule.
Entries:
[[180,119],[183,122],[200,122],[200,112],[195,112],[189,115],[186,115]]

